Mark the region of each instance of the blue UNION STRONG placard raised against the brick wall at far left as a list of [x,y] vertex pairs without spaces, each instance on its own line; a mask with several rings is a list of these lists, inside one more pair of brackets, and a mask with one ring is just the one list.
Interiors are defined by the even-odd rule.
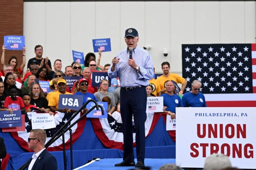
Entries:
[[25,47],[25,37],[17,35],[4,36],[4,45],[8,50],[22,50]]

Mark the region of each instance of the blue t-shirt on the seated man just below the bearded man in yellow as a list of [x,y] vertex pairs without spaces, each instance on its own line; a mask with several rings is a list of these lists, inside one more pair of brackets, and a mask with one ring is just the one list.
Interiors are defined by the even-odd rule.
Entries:
[[172,113],[176,113],[176,107],[183,107],[181,97],[173,94],[170,96],[169,94],[165,93],[161,96],[164,97],[164,106],[166,106],[166,111],[170,111]]

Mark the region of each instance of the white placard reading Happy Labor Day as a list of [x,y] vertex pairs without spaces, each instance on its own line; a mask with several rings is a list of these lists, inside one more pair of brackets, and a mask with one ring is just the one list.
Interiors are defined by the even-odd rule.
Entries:
[[53,115],[50,115],[49,113],[30,113],[32,129],[51,129],[56,127]]

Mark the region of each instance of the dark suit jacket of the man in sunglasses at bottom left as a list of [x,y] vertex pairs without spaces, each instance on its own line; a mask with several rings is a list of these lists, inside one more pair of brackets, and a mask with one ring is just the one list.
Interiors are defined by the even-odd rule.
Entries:
[[[29,159],[26,170],[28,169],[32,158]],[[36,162],[34,163],[32,170],[57,170],[56,158],[46,151],[46,149],[38,156]]]

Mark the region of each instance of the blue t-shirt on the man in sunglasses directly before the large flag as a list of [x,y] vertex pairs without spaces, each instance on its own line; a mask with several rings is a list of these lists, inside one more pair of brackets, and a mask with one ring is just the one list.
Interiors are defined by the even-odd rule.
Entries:
[[184,107],[207,107],[203,93],[193,94],[186,92],[182,96],[182,103]]

